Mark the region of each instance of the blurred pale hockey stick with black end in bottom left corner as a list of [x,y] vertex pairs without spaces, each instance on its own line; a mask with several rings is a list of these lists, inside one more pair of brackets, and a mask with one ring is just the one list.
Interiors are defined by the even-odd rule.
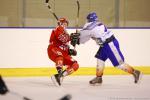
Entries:
[[25,97],[25,96],[22,96],[21,94],[19,93],[16,93],[16,92],[13,92],[13,91],[10,91],[8,90],[7,86],[6,86],[6,83],[4,82],[4,80],[2,79],[2,76],[0,75],[0,94],[1,95],[5,95],[7,93],[10,93],[12,95],[15,95],[17,97],[20,97],[22,98],[23,100],[32,100],[28,97]]

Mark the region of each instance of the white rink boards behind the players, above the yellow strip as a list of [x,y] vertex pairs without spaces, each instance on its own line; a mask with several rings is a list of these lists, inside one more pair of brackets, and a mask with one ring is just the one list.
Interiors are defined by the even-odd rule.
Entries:
[[[126,62],[133,66],[150,66],[150,29],[111,29],[120,41]],[[75,32],[75,29],[68,29]],[[0,68],[52,67],[47,46],[51,29],[0,28]],[[74,57],[80,67],[94,67],[98,46],[93,40],[77,46]],[[112,66],[109,60],[106,66]]]

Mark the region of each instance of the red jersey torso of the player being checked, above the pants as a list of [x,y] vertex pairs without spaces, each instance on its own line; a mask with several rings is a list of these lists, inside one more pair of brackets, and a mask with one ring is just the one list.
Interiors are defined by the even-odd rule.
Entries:
[[51,47],[58,47],[61,50],[68,53],[70,37],[69,34],[62,26],[58,26],[54,29],[50,36],[50,46]]

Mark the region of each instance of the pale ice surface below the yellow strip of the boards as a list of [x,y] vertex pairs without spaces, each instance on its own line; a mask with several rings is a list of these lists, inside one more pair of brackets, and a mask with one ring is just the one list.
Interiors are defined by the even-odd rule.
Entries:
[[[32,100],[60,100],[67,94],[70,100],[150,100],[150,75],[143,75],[134,84],[131,75],[104,75],[103,84],[91,86],[94,76],[67,76],[56,87],[49,77],[4,77],[10,91]],[[0,95],[0,100],[22,100],[12,93]]]

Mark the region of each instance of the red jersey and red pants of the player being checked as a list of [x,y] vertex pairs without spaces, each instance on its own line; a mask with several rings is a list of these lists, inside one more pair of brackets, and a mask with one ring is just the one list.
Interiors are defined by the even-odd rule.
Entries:
[[76,60],[69,55],[70,36],[62,26],[58,26],[51,33],[47,53],[49,58],[56,63],[56,58],[63,57],[63,64],[72,66]]

